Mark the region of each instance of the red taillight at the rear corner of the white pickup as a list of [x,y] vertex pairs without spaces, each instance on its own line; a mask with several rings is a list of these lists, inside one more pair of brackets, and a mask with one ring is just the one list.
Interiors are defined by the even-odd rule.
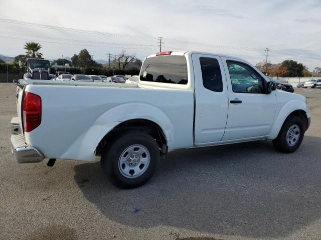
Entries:
[[41,97],[25,91],[22,112],[25,131],[32,131],[39,126],[41,123]]

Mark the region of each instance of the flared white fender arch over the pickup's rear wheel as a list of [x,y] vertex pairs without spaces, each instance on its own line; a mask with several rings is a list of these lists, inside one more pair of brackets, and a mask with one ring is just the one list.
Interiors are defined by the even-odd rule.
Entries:
[[130,102],[114,106],[99,115],[93,124],[62,154],[61,158],[93,161],[98,143],[109,131],[123,121],[137,118],[151,120],[158,124],[164,131],[169,149],[171,149],[174,127],[168,115],[154,105]]

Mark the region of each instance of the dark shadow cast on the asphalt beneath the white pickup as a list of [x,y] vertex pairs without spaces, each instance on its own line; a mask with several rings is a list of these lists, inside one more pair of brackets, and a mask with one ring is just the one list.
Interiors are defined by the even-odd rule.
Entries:
[[169,225],[247,237],[287,236],[321,217],[321,138],[291,154],[271,141],[182,149],[129,190],[111,185],[100,162],[75,166],[84,196],[124,225]]

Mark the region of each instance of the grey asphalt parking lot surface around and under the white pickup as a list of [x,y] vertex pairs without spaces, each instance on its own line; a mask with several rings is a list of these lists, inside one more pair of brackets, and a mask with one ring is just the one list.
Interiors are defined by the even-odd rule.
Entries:
[[321,89],[295,92],[311,111],[296,152],[271,141],[176,150],[123,190],[98,160],[18,164],[16,86],[0,83],[0,239],[321,239]]

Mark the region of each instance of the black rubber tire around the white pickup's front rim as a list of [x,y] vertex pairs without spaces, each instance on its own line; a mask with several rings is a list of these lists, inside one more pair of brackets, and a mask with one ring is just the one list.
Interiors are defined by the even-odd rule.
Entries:
[[[287,131],[292,125],[295,125],[295,124],[299,127],[300,135],[294,145],[289,145],[289,143],[287,142]],[[294,116],[294,115],[288,117],[283,123],[278,136],[273,140],[274,148],[284,153],[290,153],[295,151],[301,145],[301,142],[304,136],[304,131],[305,131],[304,122],[300,117]]]

